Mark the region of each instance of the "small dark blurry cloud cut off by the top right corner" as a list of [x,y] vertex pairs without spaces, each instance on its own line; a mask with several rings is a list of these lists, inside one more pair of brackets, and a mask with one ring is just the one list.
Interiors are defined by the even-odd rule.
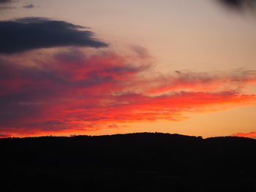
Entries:
[[256,0],[217,0],[223,5],[231,9],[255,9]]

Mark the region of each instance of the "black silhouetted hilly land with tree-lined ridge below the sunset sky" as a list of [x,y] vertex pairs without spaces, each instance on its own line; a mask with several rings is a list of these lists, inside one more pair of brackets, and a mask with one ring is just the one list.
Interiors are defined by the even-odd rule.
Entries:
[[256,191],[256,139],[141,133],[0,147],[0,191]]

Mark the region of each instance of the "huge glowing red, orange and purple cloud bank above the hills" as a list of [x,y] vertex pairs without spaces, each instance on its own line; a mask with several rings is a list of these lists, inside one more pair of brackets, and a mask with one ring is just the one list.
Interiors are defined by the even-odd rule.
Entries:
[[255,85],[255,71],[154,74],[146,55],[78,48],[5,55],[1,133],[75,134],[255,104],[255,95],[243,93],[246,85]]

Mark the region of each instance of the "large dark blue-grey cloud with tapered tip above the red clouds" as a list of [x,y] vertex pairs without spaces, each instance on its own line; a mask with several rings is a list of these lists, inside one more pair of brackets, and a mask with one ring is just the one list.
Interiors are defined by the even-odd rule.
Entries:
[[107,47],[83,26],[47,18],[0,21],[0,53],[20,53],[48,47]]

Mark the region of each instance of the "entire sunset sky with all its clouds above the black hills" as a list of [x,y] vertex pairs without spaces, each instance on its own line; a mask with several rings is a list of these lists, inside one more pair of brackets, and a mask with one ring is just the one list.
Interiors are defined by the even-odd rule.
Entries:
[[255,0],[0,0],[0,137],[256,138]]

